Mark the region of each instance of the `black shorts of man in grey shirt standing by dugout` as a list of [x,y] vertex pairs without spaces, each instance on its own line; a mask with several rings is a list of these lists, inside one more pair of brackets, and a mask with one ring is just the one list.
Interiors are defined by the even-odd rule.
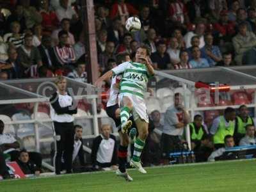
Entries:
[[169,134],[162,134],[161,136],[161,151],[162,156],[165,159],[170,157],[171,152],[179,152],[181,150],[181,144],[179,136],[173,136]]

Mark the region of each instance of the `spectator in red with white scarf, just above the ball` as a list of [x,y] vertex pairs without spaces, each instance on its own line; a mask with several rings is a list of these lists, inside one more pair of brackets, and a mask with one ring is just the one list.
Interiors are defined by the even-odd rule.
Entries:
[[138,15],[138,10],[132,6],[132,4],[125,3],[125,0],[118,0],[113,4],[109,17],[115,19],[120,17],[122,25],[125,25],[125,21],[128,19],[129,15]]

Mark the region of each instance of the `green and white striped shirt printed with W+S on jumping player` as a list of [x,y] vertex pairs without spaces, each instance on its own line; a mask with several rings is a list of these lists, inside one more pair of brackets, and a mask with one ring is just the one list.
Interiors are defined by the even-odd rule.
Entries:
[[125,62],[113,68],[112,71],[116,75],[123,74],[120,93],[144,98],[144,93],[147,92],[148,77],[150,77],[146,65]]

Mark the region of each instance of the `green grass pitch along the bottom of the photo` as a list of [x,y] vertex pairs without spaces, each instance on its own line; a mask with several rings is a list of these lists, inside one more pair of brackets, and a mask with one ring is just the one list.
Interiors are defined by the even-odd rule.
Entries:
[[129,170],[127,182],[114,172],[94,172],[37,179],[5,180],[1,192],[41,191],[256,191],[256,160],[223,161]]

